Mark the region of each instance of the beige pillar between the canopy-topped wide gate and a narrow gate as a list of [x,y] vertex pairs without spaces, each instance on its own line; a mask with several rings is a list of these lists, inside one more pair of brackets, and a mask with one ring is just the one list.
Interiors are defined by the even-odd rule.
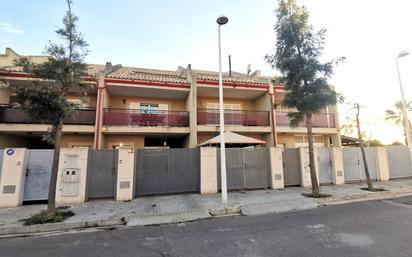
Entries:
[[272,189],[284,189],[282,148],[269,148],[270,181]]

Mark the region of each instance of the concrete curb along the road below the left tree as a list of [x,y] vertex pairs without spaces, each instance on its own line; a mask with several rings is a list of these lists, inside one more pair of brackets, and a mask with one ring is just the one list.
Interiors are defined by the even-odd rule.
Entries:
[[48,223],[20,227],[2,227],[0,229],[0,236],[18,236],[42,232],[67,231],[71,229],[81,228],[95,228],[95,227],[110,227],[124,225],[121,220],[94,220],[94,221],[80,221],[71,223]]

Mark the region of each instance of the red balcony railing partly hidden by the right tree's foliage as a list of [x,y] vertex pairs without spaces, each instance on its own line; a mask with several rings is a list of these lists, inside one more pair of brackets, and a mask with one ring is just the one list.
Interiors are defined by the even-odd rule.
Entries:
[[[290,118],[289,112],[275,111],[276,112],[276,126],[289,127]],[[305,121],[299,123],[298,127],[306,127]],[[317,113],[312,115],[312,127],[314,128],[335,128],[335,116],[333,113],[324,114]]]

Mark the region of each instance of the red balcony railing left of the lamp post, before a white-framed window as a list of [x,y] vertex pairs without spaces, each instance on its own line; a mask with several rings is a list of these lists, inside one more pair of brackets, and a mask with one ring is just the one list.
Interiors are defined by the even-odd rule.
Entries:
[[103,125],[188,127],[189,113],[183,111],[108,108],[104,110]]

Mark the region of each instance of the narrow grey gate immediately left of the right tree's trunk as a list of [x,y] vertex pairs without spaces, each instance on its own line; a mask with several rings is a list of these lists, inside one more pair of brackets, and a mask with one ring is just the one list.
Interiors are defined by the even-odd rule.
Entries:
[[285,186],[300,185],[300,157],[299,149],[284,149],[283,159],[283,178]]

